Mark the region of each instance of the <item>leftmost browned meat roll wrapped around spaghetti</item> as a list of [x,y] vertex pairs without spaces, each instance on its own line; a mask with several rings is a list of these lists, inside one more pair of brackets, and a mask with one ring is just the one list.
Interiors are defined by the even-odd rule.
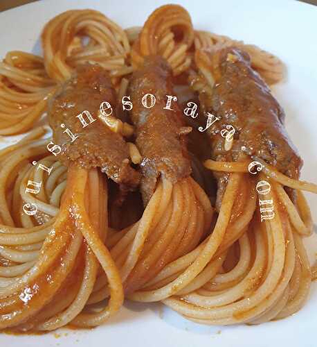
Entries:
[[[86,169],[100,167],[109,178],[120,184],[120,188],[134,188],[140,175],[129,165],[125,139],[98,119],[102,101],[108,101],[115,109],[116,95],[102,67],[83,65],[62,85],[48,109],[54,142],[62,147],[59,158],[66,166],[74,163]],[[84,117],[88,126],[83,128],[76,116],[84,110],[88,110],[96,121],[89,123]],[[61,124],[65,124],[64,128]],[[64,133],[66,128],[79,137],[72,142],[71,137]]]

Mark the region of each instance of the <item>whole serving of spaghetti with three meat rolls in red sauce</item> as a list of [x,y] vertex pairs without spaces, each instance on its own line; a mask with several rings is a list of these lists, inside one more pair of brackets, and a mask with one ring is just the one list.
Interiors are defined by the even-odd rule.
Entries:
[[41,38],[0,63],[0,135],[24,134],[0,151],[0,329],[93,327],[124,298],[216,325],[297,312],[317,186],[266,84],[282,62],[176,5],[126,30],[69,10]]

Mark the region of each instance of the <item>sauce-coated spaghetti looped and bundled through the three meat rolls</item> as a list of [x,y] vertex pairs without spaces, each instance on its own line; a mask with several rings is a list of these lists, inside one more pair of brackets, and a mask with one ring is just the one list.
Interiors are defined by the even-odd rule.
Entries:
[[[210,74],[195,53],[228,45],[247,51],[266,82],[282,79],[278,58],[194,31],[188,12],[172,5],[154,11],[143,28],[127,30],[95,10],[69,10],[46,24],[42,57],[6,54],[0,62],[0,135],[25,135],[0,151],[0,329],[100,325],[119,310],[124,291],[133,301],[162,301],[192,321],[217,325],[280,319],[304,305],[312,274],[302,238],[311,234],[312,221],[302,190],[317,193],[316,185],[266,163],[262,176],[253,177],[248,158],[208,160],[208,169],[228,173],[214,212],[210,176],[194,156],[193,177],[174,185],[161,179],[145,208],[137,193],[118,208],[114,183],[98,169],[64,167],[46,149],[51,131],[37,126],[46,122],[48,99],[59,83],[83,62],[109,71],[119,100],[130,74],[151,54],[167,60],[175,81],[208,92]],[[112,121],[121,124],[114,131],[123,131],[119,119]],[[130,149],[132,162],[139,163],[138,149]],[[264,177],[275,218],[261,223],[255,185]],[[41,182],[40,189],[28,192],[29,181]],[[295,189],[296,203],[284,187]],[[27,214],[26,205],[37,205],[37,214]],[[123,219],[125,225],[118,223]]]

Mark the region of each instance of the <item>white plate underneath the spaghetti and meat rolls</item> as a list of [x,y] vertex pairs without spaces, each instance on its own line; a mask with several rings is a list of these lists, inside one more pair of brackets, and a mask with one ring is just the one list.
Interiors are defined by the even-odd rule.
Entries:
[[[229,35],[275,53],[287,65],[287,81],[274,87],[287,115],[287,130],[305,161],[302,179],[317,182],[317,7],[298,1],[173,1],[188,9],[195,28]],[[73,8],[94,8],[123,27],[142,25],[161,0],[39,1],[0,13],[0,56],[10,50],[39,53],[46,22]],[[1,146],[6,142],[1,141]],[[317,196],[307,194],[317,219]],[[316,230],[316,227],[315,227]],[[317,230],[316,230],[317,231]],[[309,239],[314,261],[316,235]],[[125,303],[114,319],[93,330],[59,330],[41,336],[0,335],[0,346],[288,346],[316,347],[317,285],[307,305],[282,321],[259,326],[209,327],[186,321],[160,304]]]

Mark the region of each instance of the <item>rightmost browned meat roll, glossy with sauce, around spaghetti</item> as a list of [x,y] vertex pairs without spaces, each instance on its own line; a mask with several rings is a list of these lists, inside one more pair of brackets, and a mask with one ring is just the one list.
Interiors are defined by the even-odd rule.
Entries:
[[[202,100],[220,119],[209,129],[212,157],[237,160],[244,151],[283,174],[298,178],[302,160],[284,128],[284,112],[260,75],[251,69],[248,54],[236,48],[223,49],[217,54],[219,78],[211,99]],[[227,124],[235,128],[230,151],[224,151],[224,138],[220,135]]]

